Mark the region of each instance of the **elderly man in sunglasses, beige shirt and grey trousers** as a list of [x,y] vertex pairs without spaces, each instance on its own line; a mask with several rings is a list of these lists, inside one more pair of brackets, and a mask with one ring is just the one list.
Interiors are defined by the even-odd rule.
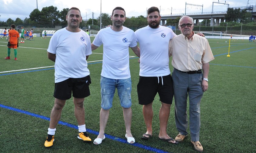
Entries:
[[194,20],[183,16],[179,21],[182,34],[174,37],[169,43],[172,56],[172,73],[175,123],[179,134],[176,142],[187,137],[187,96],[189,95],[189,122],[191,143],[194,148],[203,152],[199,142],[200,102],[203,92],[208,89],[209,62],[214,60],[210,45],[205,37],[194,34]]

